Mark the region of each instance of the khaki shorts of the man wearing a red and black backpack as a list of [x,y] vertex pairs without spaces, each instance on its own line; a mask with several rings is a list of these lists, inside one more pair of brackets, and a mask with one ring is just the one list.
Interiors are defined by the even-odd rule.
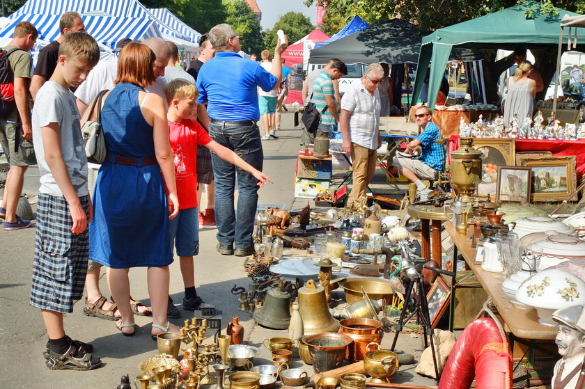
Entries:
[[[36,164],[33,143],[22,138],[22,130],[17,127],[17,117],[0,119],[0,143],[11,166],[30,166]],[[18,135],[18,136],[17,136]],[[15,142],[18,152],[15,152]]]

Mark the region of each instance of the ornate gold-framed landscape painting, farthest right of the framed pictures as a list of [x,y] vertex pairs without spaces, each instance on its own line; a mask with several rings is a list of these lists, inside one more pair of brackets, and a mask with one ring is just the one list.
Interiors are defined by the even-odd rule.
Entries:
[[577,186],[575,155],[522,158],[522,166],[531,171],[531,200],[549,202],[567,200]]

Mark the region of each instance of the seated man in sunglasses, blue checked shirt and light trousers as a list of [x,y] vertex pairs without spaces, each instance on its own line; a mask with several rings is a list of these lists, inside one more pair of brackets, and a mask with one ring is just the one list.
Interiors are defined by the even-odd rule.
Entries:
[[396,154],[393,166],[400,173],[416,184],[416,192],[421,200],[426,199],[430,189],[421,180],[435,180],[445,164],[445,152],[441,145],[435,143],[439,138],[439,127],[433,123],[432,111],[428,106],[421,106],[414,114],[416,124],[422,129],[422,133],[406,145],[405,154],[414,152],[417,146],[421,146],[423,152],[419,159],[402,157]]

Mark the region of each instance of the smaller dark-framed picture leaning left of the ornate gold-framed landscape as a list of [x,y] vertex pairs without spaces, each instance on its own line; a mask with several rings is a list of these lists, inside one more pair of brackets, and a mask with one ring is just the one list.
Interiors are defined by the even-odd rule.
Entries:
[[530,203],[531,168],[498,166],[496,203]]

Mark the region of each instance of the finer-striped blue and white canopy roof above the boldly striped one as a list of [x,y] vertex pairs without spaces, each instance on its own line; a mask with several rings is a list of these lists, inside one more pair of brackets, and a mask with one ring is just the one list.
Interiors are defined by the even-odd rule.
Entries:
[[29,0],[10,17],[23,14],[62,15],[68,11],[75,11],[80,15],[109,15],[122,17],[123,19],[151,19],[157,23],[160,33],[190,41],[189,35],[173,30],[171,26],[157,19],[137,0]]

